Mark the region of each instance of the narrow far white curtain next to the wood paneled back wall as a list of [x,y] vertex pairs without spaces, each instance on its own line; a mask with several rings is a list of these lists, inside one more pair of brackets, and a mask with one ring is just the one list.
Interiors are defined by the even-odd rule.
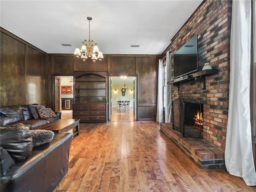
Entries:
[[159,60],[158,64],[158,90],[157,90],[157,111],[156,121],[164,122],[163,106],[163,61]]

